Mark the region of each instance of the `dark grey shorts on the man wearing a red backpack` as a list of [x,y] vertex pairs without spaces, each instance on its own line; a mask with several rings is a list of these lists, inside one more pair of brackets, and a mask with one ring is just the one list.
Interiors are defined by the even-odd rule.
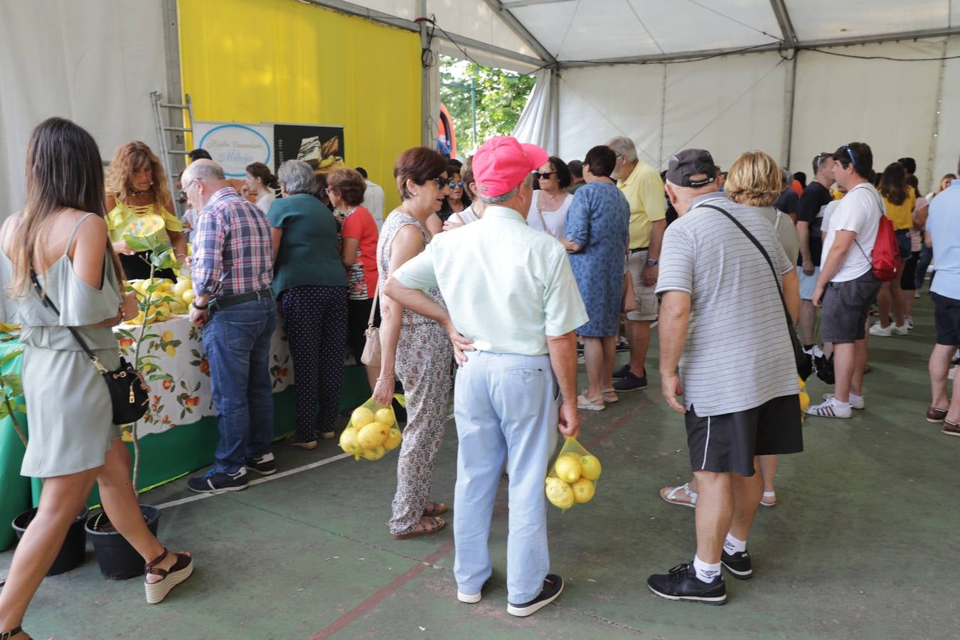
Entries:
[[827,285],[820,314],[825,343],[849,344],[867,337],[867,317],[880,284],[874,272],[868,271],[858,278]]

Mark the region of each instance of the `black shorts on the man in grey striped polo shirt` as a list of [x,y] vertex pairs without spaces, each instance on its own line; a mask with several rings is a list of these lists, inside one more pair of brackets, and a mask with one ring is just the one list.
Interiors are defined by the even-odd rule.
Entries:
[[754,475],[754,456],[779,456],[804,450],[797,394],[781,395],[759,407],[733,414],[701,417],[686,412],[686,445],[694,471]]

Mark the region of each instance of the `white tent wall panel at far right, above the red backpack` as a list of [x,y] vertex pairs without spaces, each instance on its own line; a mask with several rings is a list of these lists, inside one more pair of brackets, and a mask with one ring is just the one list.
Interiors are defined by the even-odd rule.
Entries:
[[[944,41],[886,42],[828,51],[856,56],[941,58]],[[810,176],[810,162],[816,154],[835,151],[847,142],[866,142],[874,152],[876,172],[882,172],[899,157],[916,158],[917,178],[922,189],[926,189],[935,171],[929,158],[942,64],[941,60],[865,60],[801,51],[797,59],[790,168]],[[955,117],[960,117],[956,110],[960,108],[958,98],[954,91],[951,102]],[[946,97],[944,100],[947,104]],[[940,141],[938,148],[949,146],[945,142]],[[954,153],[958,149],[956,141],[952,149]]]

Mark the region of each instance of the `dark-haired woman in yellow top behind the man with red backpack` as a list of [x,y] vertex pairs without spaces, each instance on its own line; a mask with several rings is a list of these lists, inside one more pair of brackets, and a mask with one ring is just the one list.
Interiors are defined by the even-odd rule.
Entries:
[[[906,183],[906,170],[900,162],[892,162],[883,170],[880,177],[880,196],[887,218],[897,232],[897,244],[900,246],[900,260],[910,257],[910,229],[913,228],[913,207],[917,204],[917,192]],[[893,304],[897,324],[890,324],[890,306]],[[905,336],[909,329],[906,325],[906,298],[900,288],[900,278],[884,282],[876,306],[880,318],[870,327],[870,335],[889,338]]]

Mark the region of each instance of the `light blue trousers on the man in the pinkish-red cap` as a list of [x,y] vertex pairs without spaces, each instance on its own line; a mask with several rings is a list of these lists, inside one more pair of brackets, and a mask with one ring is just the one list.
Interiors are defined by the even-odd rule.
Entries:
[[468,359],[457,369],[453,399],[459,438],[453,575],[465,594],[480,593],[490,578],[487,542],[506,460],[507,597],[524,604],[540,594],[550,568],[543,480],[557,446],[559,392],[549,356],[470,352]]

